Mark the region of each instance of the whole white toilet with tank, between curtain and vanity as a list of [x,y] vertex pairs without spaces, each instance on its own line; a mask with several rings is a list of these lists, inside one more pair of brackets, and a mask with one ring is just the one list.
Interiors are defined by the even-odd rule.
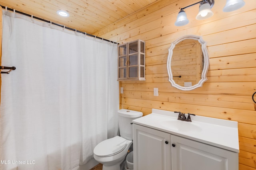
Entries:
[[120,170],[128,149],[132,145],[132,120],[142,117],[142,112],[118,110],[120,136],[100,142],[94,148],[94,159],[103,164],[102,170]]

